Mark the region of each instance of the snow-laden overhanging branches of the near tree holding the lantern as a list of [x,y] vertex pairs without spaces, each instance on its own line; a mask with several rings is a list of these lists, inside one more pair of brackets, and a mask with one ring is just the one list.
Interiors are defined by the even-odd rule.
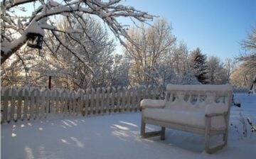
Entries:
[[[65,16],[70,20],[72,24],[73,16],[82,21],[82,15],[88,14],[91,16],[97,16],[107,24],[110,31],[124,44],[122,37],[131,40],[127,35],[126,26],[118,23],[117,17],[130,17],[137,19],[138,21],[152,20],[153,16],[146,12],[138,11],[131,6],[118,5],[121,0],[69,0],[58,3],[58,1],[34,1],[34,0],[16,0],[16,1],[1,1],[1,63],[5,62],[11,55],[17,52],[27,41],[28,33],[41,33],[44,35],[44,31],[48,30],[53,33],[53,36],[57,39],[57,46],[50,47],[48,39],[44,39],[45,46],[48,47],[53,53],[62,45],[75,55],[80,61],[85,61],[85,55],[79,55],[75,48],[69,44],[68,40],[59,38],[59,33],[73,33],[73,31],[60,31],[55,26],[55,22],[52,21],[52,17],[55,15]],[[36,3],[37,2],[37,3]],[[30,16],[17,15],[16,11],[26,11],[22,6],[23,4],[31,4],[34,6],[34,11]],[[38,5],[39,4],[39,5]],[[90,38],[90,37],[88,37]],[[93,39],[90,39],[93,42]],[[77,41],[76,43],[84,45]]]

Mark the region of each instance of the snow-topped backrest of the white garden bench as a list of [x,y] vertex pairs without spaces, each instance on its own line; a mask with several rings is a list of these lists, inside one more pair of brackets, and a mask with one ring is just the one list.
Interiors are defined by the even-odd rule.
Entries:
[[166,108],[204,109],[207,104],[230,106],[232,86],[222,85],[177,85],[168,84],[166,88]]

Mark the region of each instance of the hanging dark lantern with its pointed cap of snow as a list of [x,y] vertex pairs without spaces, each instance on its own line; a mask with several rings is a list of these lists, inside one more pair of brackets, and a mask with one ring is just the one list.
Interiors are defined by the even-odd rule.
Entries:
[[41,49],[43,45],[43,36],[45,35],[43,29],[34,22],[26,30],[28,46],[31,48]]

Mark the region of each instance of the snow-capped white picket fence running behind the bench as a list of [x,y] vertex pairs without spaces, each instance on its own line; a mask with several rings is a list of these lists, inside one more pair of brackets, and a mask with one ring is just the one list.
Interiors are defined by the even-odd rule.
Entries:
[[46,118],[48,114],[94,116],[139,111],[141,99],[159,99],[161,87],[107,87],[46,89],[38,87],[1,88],[1,124]]

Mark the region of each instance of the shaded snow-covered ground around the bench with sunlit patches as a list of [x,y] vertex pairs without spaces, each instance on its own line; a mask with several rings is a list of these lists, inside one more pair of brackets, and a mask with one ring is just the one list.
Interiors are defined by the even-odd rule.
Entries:
[[[256,95],[235,94],[228,146],[213,155],[203,152],[203,136],[166,129],[166,140],[139,136],[140,113],[90,118],[65,117],[1,125],[1,158],[255,158],[256,133],[242,134],[250,116],[256,125]],[[247,121],[245,121],[247,124]],[[235,128],[238,127],[238,128]],[[147,129],[156,129],[148,126]],[[213,138],[214,140],[215,138]]]

